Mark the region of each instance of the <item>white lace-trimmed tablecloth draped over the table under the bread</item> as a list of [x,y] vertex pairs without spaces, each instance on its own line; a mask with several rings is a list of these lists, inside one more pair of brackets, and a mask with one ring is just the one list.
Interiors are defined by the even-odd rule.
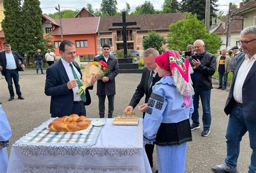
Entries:
[[12,146],[8,172],[151,172],[143,148],[143,120],[138,126],[113,126],[112,120],[96,127],[100,130],[92,146],[22,142],[41,125]]

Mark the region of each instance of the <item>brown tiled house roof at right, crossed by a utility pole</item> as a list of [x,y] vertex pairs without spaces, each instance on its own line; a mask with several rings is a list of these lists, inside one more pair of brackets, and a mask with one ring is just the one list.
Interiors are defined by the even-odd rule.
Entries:
[[[230,32],[241,32],[242,31],[242,17],[241,16],[233,16],[230,25]],[[225,16],[221,20],[221,24],[217,28],[217,30],[214,31],[216,34],[224,34],[227,32],[227,16]]]

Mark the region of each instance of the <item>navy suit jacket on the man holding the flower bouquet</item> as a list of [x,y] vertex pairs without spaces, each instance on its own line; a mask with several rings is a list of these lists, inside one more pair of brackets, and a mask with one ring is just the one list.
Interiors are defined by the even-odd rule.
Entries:
[[[73,62],[73,64],[82,76],[78,64],[76,62]],[[46,70],[44,93],[47,96],[51,96],[51,117],[63,117],[72,114],[73,90],[68,89],[68,82],[69,77],[61,60]],[[92,86],[85,90],[85,105],[89,105],[91,103],[91,97],[88,89],[92,89]]]

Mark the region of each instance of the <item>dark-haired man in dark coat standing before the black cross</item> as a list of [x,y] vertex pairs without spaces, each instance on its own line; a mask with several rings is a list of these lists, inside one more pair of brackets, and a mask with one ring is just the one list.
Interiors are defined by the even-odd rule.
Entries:
[[110,55],[110,46],[102,46],[102,55],[96,56],[93,61],[104,61],[107,67],[110,68],[109,72],[105,74],[102,80],[97,82],[97,96],[99,98],[99,118],[104,118],[105,114],[105,98],[109,100],[108,117],[112,118],[114,111],[114,95],[116,95],[116,82],[114,78],[119,73],[118,61],[115,57]]

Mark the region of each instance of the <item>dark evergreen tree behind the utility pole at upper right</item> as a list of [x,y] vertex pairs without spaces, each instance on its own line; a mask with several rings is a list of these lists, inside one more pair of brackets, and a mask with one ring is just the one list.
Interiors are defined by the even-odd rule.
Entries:
[[[216,12],[218,11],[218,0],[211,0],[210,6],[210,19],[212,17],[216,18]],[[192,14],[197,14],[199,20],[205,19],[205,0],[182,0],[180,12],[191,12]]]

